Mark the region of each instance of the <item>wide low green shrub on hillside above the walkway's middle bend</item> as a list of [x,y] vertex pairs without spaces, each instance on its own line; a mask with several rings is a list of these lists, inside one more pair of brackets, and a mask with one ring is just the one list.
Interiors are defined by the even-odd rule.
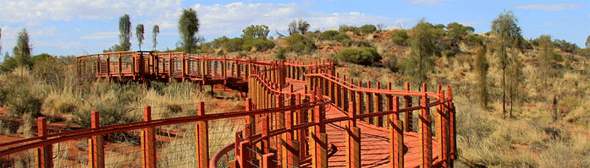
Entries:
[[338,59],[361,65],[373,65],[381,60],[381,55],[374,48],[345,48],[338,52]]

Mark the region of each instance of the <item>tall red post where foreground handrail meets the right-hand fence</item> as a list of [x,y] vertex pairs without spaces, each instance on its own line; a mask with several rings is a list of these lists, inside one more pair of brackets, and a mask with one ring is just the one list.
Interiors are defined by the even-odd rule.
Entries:
[[432,133],[426,83],[422,86],[424,96],[422,96],[422,109],[418,120],[420,127],[420,167],[427,168],[432,167]]

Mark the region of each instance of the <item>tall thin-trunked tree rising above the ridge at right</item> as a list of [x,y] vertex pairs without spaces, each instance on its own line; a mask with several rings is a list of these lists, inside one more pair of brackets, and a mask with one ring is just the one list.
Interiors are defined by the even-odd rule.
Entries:
[[[507,47],[515,46],[522,37],[518,19],[512,11],[501,13],[492,21],[492,33],[496,36],[496,55],[500,58],[502,68],[502,113],[506,116],[506,68],[509,64]],[[513,55],[514,57],[514,55]]]

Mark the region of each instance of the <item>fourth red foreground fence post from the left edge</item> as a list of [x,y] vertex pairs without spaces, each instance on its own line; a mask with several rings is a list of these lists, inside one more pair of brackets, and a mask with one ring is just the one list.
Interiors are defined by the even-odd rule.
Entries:
[[[197,115],[205,115],[205,102],[197,103]],[[195,147],[197,148],[197,160],[199,167],[209,167],[209,126],[207,121],[198,121],[195,125]]]

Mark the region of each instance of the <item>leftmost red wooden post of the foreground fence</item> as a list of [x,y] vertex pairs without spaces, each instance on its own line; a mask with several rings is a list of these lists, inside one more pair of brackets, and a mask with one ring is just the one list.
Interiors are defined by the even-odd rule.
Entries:
[[[45,117],[37,118],[37,136],[44,137],[47,136],[47,119]],[[46,138],[41,138],[45,140]],[[47,145],[40,147],[38,149],[39,152],[39,164],[40,168],[51,168],[53,167],[53,147],[52,145]]]

